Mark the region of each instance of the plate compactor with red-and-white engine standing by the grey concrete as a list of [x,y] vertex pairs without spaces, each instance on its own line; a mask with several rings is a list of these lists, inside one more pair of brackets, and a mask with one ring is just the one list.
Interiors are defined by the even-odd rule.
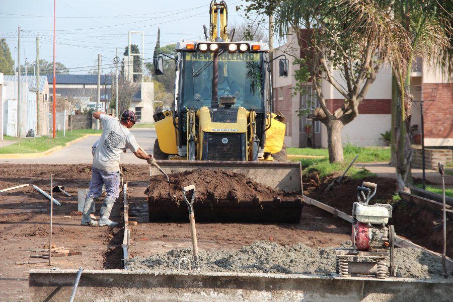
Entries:
[[363,182],[357,187],[358,202],[352,206],[352,249],[335,249],[337,273],[350,275],[375,275],[379,279],[395,276],[395,229],[389,225],[392,217],[390,204],[369,200],[376,194],[378,185]]

